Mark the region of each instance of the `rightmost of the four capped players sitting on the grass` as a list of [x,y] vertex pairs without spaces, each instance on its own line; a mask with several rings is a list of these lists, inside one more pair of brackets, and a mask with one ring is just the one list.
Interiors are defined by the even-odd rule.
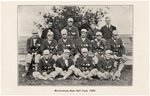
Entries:
[[106,50],[104,57],[101,57],[97,63],[97,76],[100,79],[114,79],[113,76],[117,70],[114,63],[115,61],[112,58],[112,51]]

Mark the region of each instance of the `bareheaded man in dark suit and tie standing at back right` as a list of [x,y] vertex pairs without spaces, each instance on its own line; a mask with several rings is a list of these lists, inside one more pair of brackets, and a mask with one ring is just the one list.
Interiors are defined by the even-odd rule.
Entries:
[[101,28],[101,32],[102,32],[103,38],[108,40],[108,39],[111,39],[112,32],[116,30],[116,27],[111,25],[110,17],[106,17],[105,22],[106,22],[106,25]]

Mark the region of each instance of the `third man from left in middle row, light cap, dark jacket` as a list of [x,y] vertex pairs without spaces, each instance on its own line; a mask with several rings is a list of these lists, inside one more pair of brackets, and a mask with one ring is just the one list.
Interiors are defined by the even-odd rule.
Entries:
[[58,55],[63,54],[64,49],[69,49],[70,55],[75,54],[75,44],[72,39],[68,38],[68,33],[66,29],[61,30],[62,38],[58,41],[57,53]]

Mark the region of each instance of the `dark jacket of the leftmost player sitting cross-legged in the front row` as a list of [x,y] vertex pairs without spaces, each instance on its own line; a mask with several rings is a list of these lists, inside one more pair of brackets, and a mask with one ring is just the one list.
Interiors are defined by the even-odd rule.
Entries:
[[55,60],[53,58],[49,58],[46,62],[46,60],[43,58],[40,59],[39,65],[38,65],[38,71],[39,72],[47,72],[50,73],[55,70],[54,68]]

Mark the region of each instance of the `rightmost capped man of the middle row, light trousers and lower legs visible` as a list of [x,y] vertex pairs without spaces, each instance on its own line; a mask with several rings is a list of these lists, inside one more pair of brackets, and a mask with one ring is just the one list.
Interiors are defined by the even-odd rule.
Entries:
[[125,46],[121,38],[119,38],[117,30],[113,31],[113,37],[108,40],[107,48],[113,52],[116,66],[118,67],[115,76],[119,78],[124,68],[124,63],[127,61],[127,56],[125,55]]

